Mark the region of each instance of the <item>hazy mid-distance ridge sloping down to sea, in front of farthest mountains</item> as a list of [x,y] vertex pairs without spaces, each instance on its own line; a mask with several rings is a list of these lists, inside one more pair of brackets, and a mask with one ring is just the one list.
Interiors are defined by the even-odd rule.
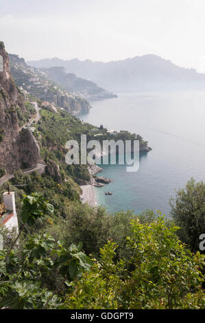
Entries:
[[[79,97],[83,100],[104,100],[106,98],[116,97],[115,94],[98,87],[94,82],[84,80],[83,78],[77,78],[75,74],[68,74],[64,67],[41,69],[30,67],[25,63],[23,58],[19,58],[19,56],[15,54],[10,54],[10,67],[12,76],[18,86],[21,86],[26,90],[29,89],[34,95],[36,94],[36,89],[38,89],[38,92],[41,89],[42,93],[37,93],[38,97],[45,98],[45,93],[53,92],[53,89],[50,91],[52,82],[54,82],[57,87],[61,88],[63,92],[69,92],[69,97],[75,96],[76,98]],[[32,84],[29,84],[31,82]],[[48,87],[47,85],[51,85],[51,87]],[[67,93],[64,94],[67,96]],[[49,101],[51,99],[52,98],[49,98]]]

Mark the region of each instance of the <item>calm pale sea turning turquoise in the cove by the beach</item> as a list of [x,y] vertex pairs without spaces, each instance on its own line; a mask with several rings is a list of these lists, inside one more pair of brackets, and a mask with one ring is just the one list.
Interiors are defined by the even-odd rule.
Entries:
[[[118,98],[92,102],[80,119],[108,129],[138,133],[152,151],[141,155],[138,172],[108,165],[101,176],[112,182],[95,188],[97,203],[110,212],[147,208],[169,216],[169,199],[191,177],[205,181],[205,91],[119,93]],[[105,192],[112,192],[106,196]]]

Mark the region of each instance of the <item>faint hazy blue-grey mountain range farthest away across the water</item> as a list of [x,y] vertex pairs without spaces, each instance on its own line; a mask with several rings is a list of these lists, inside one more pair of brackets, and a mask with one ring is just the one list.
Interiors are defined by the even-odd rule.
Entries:
[[27,64],[45,68],[64,67],[67,73],[74,73],[114,92],[205,89],[205,74],[178,67],[170,60],[152,54],[109,63],[46,58],[28,61]]

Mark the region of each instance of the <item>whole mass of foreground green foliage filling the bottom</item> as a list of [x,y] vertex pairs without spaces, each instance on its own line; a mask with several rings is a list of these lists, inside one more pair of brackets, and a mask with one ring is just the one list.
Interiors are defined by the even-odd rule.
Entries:
[[35,228],[36,217],[43,221],[38,234],[24,232],[15,249],[5,244],[0,252],[0,307],[205,308],[204,256],[191,254],[164,217],[150,210],[108,214],[75,202],[66,219],[45,219],[52,211],[42,194],[24,197],[27,229]]

